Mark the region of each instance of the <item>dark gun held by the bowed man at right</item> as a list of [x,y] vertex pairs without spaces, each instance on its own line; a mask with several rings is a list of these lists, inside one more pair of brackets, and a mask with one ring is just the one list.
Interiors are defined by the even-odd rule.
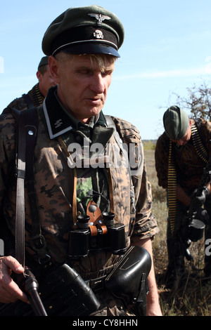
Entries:
[[[203,169],[203,176],[200,179],[200,183],[195,194],[191,197],[191,204],[189,210],[184,217],[181,226],[181,242],[184,245],[184,255],[188,261],[191,261],[193,266],[193,256],[188,248],[191,246],[191,242],[197,242],[203,238],[205,224],[208,220],[207,211],[204,209],[198,209],[196,207],[196,197],[200,196],[203,190],[206,190],[206,184],[211,180],[211,157],[207,161],[206,167]],[[198,213],[200,213],[200,220],[198,219]]]

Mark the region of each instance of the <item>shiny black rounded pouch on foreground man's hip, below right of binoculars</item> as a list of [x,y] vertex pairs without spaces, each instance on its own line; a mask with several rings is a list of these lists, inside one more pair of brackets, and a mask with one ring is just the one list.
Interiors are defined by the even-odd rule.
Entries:
[[126,305],[133,304],[136,315],[146,316],[148,274],[151,256],[141,246],[131,246],[105,280],[105,286]]

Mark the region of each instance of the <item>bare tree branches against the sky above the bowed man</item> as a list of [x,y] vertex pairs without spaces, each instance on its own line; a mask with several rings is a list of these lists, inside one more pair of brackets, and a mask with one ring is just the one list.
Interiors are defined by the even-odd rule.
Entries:
[[188,110],[189,117],[204,118],[211,120],[211,89],[207,86],[205,81],[200,86],[193,86],[187,88],[188,96],[181,98],[177,96],[177,105],[183,110]]

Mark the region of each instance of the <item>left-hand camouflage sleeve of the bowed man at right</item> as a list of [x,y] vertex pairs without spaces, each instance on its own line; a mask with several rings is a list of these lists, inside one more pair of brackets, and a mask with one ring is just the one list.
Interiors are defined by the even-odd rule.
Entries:
[[167,188],[167,171],[168,171],[168,157],[169,157],[170,139],[165,133],[158,138],[155,147],[155,169],[158,176],[158,185]]

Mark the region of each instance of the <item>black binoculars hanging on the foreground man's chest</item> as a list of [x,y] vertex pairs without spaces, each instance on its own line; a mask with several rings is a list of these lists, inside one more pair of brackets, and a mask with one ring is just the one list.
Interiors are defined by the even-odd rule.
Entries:
[[[91,235],[89,228],[90,217],[77,216],[77,229],[70,231],[69,251],[70,258],[88,256],[89,251],[107,250],[113,254],[124,254],[126,242],[124,224],[115,223],[115,214],[106,212],[102,214],[102,223],[106,225],[106,233],[103,233],[101,226],[96,225],[97,234]],[[100,220],[101,221],[101,220]]]

